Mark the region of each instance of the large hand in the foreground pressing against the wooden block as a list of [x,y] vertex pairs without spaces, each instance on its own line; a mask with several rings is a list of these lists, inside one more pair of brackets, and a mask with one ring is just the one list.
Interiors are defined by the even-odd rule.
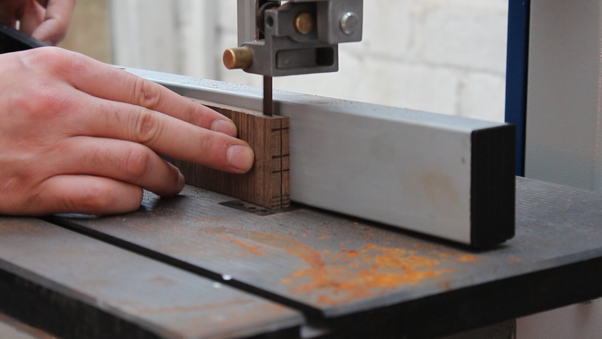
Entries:
[[0,214],[135,211],[142,188],[184,188],[157,154],[232,173],[253,165],[230,119],[84,55],[2,54],[0,79]]

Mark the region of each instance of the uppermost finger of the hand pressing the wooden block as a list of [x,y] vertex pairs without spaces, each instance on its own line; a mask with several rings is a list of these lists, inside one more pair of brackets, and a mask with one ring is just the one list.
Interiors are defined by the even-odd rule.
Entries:
[[238,134],[231,119],[160,84],[81,54],[64,53],[67,53],[69,60],[63,63],[63,67],[55,67],[55,75],[82,92],[105,100],[141,106],[229,136]]

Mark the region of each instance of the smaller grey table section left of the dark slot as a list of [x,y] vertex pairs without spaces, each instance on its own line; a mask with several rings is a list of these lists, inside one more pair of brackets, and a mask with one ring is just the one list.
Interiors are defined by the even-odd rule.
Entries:
[[62,338],[299,337],[298,311],[33,218],[0,218],[0,311]]

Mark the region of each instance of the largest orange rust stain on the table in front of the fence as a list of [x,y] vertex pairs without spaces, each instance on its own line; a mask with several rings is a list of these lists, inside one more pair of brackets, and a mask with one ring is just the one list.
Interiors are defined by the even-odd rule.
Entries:
[[[360,249],[330,254],[330,250],[314,250],[281,235],[226,228],[206,229],[206,232],[219,233],[238,246],[249,246],[238,240],[242,238],[284,250],[301,259],[307,267],[288,274],[280,283],[289,285],[291,293],[315,296],[321,305],[340,305],[380,296],[403,285],[454,272],[437,270],[441,264],[438,259],[417,255],[414,250],[367,244]],[[327,258],[324,255],[328,255]]]

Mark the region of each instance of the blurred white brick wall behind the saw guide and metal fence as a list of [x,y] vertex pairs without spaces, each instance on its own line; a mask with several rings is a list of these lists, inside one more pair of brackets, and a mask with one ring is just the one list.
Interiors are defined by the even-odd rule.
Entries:
[[[340,72],[275,88],[503,121],[507,0],[365,0],[364,41]],[[237,46],[236,0],[113,0],[115,62],[261,86],[221,63]]]

